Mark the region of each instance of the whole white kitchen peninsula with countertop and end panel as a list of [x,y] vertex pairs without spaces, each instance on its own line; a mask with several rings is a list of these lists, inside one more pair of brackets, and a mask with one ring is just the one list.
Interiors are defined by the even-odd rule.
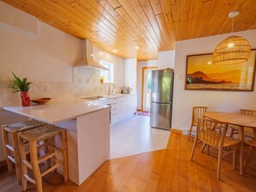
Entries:
[[[109,111],[107,105],[74,100],[30,107],[3,107],[28,118],[67,130],[69,179],[80,185],[109,159]],[[57,145],[59,140],[56,140]]]

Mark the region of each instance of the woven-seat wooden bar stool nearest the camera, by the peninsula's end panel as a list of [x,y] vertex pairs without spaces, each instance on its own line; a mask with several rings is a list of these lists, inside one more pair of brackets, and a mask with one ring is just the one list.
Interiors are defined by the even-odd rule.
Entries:
[[[58,149],[54,146],[54,137],[61,135],[62,149]],[[30,151],[30,162],[26,157],[26,152],[24,149],[24,142],[28,141],[29,151]],[[41,146],[37,146],[40,141],[46,141],[41,146],[47,146],[48,152],[42,156],[38,157],[38,150]],[[66,153],[66,130],[53,125],[44,125],[42,127],[37,127],[32,130],[18,133],[18,143],[22,158],[22,189],[25,191],[27,189],[27,183],[34,183],[36,186],[36,191],[42,191],[41,177],[44,177],[51,171],[57,169],[60,165],[63,165],[64,180],[68,180],[68,167],[67,167],[67,153]],[[63,160],[59,160],[56,155],[62,152]],[[44,161],[50,159],[51,167],[41,173],[40,164]],[[28,176],[28,168],[33,171],[33,176]]]

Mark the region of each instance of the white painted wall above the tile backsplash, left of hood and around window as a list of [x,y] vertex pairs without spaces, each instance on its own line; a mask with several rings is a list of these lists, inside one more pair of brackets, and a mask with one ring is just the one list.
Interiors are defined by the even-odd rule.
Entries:
[[[9,70],[12,70],[31,81],[72,83],[72,65],[81,58],[81,40],[0,2],[0,10],[3,9],[0,14],[0,81],[11,77]],[[114,81],[121,86],[123,59],[97,46],[93,50],[98,62],[103,59],[114,64]]]

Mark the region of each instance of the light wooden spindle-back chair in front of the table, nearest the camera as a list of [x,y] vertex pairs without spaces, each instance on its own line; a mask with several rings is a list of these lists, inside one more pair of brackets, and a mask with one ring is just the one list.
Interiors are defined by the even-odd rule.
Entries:
[[[218,150],[217,179],[221,177],[222,157],[233,152],[233,169],[235,168],[236,148],[240,144],[239,139],[226,136],[228,123],[221,121],[211,121],[198,117],[197,135],[194,140],[190,160],[192,161],[197,146],[197,141],[203,141],[203,144],[215,147]],[[233,147],[232,151],[225,152],[223,148]]]

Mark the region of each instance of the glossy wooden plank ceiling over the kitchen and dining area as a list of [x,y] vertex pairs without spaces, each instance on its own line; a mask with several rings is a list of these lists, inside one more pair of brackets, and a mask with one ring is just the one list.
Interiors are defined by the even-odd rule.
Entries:
[[175,41],[256,28],[256,0],[3,0],[122,58],[156,59]]

